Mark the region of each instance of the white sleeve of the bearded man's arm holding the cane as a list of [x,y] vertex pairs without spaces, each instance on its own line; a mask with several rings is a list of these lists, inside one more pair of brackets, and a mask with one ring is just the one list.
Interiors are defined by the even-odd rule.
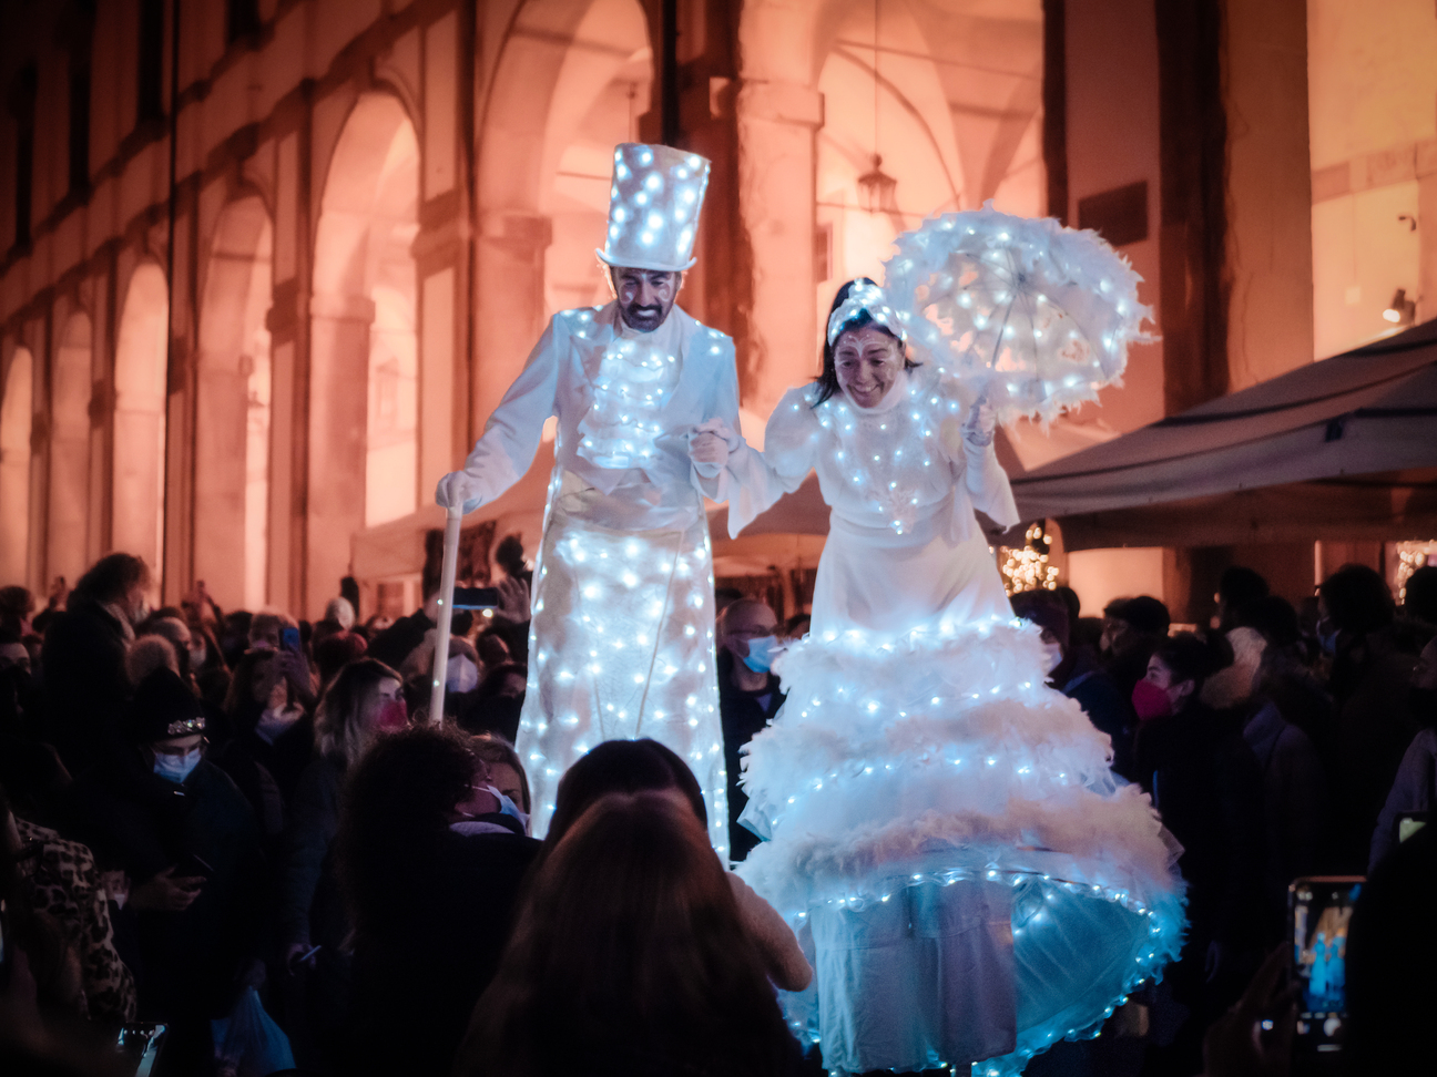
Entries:
[[559,386],[556,319],[529,353],[523,372],[494,408],[484,435],[464,461],[464,471],[483,485],[483,504],[503,494],[529,471],[539,452],[545,421],[555,414]]

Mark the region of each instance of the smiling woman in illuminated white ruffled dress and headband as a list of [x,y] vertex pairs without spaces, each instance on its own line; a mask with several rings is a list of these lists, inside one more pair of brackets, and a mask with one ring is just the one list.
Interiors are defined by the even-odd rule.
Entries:
[[1109,742],[1045,686],[974,508],[1017,510],[993,414],[907,358],[882,292],[835,299],[823,375],[713,495],[737,534],[809,470],[832,514],[787,702],[750,744],[740,867],[816,971],[786,997],[829,1070],[1017,1073],[1178,946],[1181,883]]

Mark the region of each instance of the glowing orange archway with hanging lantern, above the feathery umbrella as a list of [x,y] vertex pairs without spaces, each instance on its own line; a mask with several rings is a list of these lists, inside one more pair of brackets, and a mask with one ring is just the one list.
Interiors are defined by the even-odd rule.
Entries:
[[[740,370],[749,406],[767,414],[812,376],[821,319],[809,310],[826,310],[842,280],[872,274],[901,228],[984,198],[1043,213],[1042,26],[1040,0],[744,3],[736,109],[753,258]],[[897,197],[868,213],[856,181],[875,152]]]

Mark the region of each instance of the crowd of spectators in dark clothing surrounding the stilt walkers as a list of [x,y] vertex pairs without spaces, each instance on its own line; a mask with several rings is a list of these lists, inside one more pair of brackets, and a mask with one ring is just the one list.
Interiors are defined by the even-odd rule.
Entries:
[[[0,589],[0,1070],[129,1074],[119,1028],[162,1022],[160,1077],[274,1071],[233,1054],[250,1005],[250,1047],[309,1074],[816,1071],[775,997],[812,969],[708,849],[681,758],[598,745],[562,780],[545,840],[529,836],[513,741],[530,576],[517,541],[500,553],[500,606],[454,617],[441,721],[433,586],[392,623],[358,623],[336,597],[312,625],[221,610],[203,584],[151,609],[149,569],[122,553],[39,612]],[[782,707],[770,663],[805,623],[720,597],[740,860],[756,843],[741,750]],[[1311,609],[1232,569],[1196,632],[1148,596],[1101,619],[1068,589],[1013,609],[1052,686],[1152,797],[1190,918],[1161,985],[1030,1071],[1190,1077],[1209,1030],[1213,1077],[1270,1071],[1229,1031],[1282,1004],[1263,959],[1309,875],[1372,879],[1351,936],[1352,1048],[1397,1057],[1411,1032],[1378,1005],[1415,1014],[1433,994],[1392,985],[1415,982],[1423,951],[1403,965],[1394,932],[1420,920],[1437,844],[1398,840],[1437,796],[1437,569],[1398,606],[1346,566]]]

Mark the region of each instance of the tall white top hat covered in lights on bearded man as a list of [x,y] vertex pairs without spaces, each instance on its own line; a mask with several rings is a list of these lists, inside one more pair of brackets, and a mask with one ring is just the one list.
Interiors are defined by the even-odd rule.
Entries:
[[673,146],[614,148],[609,231],[598,256],[609,266],[677,273],[694,264],[708,161]]

